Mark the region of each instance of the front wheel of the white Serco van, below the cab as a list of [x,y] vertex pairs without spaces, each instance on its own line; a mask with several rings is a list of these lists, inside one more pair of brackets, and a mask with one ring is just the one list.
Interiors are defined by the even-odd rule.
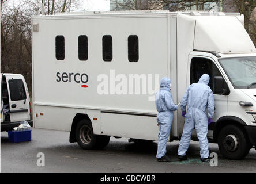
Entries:
[[235,125],[227,125],[221,129],[218,145],[220,153],[227,159],[243,159],[250,151],[246,133]]

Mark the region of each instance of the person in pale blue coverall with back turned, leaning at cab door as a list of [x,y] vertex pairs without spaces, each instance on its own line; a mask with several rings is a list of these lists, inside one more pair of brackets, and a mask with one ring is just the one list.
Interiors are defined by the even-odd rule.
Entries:
[[[186,151],[189,148],[191,134],[195,128],[201,148],[201,160],[202,162],[209,161],[207,133],[208,125],[213,122],[212,118],[214,116],[214,97],[212,90],[208,86],[209,81],[209,75],[203,74],[198,83],[190,85],[182,97],[180,106],[182,116],[185,117],[185,125],[179,143],[179,160],[187,160]],[[208,110],[208,115],[206,114],[206,109]]]

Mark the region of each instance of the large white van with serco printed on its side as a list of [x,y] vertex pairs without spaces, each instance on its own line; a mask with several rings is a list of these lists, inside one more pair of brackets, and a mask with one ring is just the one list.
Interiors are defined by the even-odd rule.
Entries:
[[[215,99],[208,138],[228,159],[256,145],[256,49],[239,13],[125,11],[32,17],[33,120],[99,148],[110,136],[157,140],[154,94],[174,102],[206,73]],[[170,141],[185,119],[174,112]],[[197,140],[195,131],[193,140]]]

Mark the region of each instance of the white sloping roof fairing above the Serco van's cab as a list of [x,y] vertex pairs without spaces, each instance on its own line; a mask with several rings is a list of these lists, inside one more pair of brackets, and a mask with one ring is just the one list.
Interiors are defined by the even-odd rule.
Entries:
[[179,36],[194,33],[191,45],[199,51],[219,53],[256,53],[249,34],[243,27],[243,16],[187,16],[178,14]]

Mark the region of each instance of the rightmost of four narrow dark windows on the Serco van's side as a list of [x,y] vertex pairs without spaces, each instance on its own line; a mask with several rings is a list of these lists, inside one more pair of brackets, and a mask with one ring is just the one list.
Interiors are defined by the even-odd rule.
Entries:
[[138,36],[128,37],[128,59],[130,62],[138,62]]

